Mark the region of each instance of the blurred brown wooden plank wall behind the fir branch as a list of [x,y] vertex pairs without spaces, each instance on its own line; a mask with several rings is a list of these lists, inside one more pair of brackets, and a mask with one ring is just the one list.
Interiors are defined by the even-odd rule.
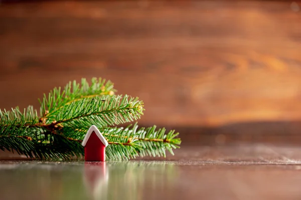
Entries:
[[301,119],[301,1],[0,4],[0,107],[101,76],[145,102],[141,123]]

